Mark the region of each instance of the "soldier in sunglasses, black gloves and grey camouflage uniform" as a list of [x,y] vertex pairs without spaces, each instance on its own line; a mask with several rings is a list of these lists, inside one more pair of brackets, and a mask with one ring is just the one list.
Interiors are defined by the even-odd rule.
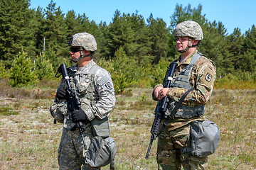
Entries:
[[[82,137],[75,123],[82,122],[85,131],[87,149],[92,137],[92,120],[105,119],[114,108],[114,86],[110,73],[98,67],[95,75],[90,73],[92,67],[97,65],[92,60],[92,55],[97,49],[93,35],[77,33],[70,38],[70,55],[72,61],[77,63],[68,68],[70,86],[75,89],[81,101],[80,109],[71,113],[66,101],[67,88],[63,81],[57,89],[55,101],[50,106],[50,113],[59,123],[63,123],[63,134],[58,149],[58,164],[60,169],[96,169],[85,162],[87,150],[84,148]],[[107,121],[108,125],[108,121]]]

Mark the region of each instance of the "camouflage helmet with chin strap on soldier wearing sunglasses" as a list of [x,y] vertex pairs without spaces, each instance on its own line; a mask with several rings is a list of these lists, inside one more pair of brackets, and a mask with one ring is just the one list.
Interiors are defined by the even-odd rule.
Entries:
[[[93,35],[90,33],[76,33],[73,35],[69,42],[68,45],[73,47],[80,47],[80,57],[78,60],[72,60],[73,62],[79,62],[82,57],[88,57],[90,55],[93,55],[95,51],[97,50],[97,42]],[[82,50],[85,49],[87,51],[91,51],[92,53],[90,55],[83,55]]]

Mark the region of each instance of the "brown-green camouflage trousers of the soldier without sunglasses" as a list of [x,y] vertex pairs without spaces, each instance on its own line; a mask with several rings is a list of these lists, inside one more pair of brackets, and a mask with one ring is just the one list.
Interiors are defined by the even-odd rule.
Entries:
[[191,123],[169,131],[165,128],[158,139],[157,163],[159,170],[171,169],[206,169],[207,157],[196,157],[190,152],[181,154],[181,148],[190,147],[189,140]]

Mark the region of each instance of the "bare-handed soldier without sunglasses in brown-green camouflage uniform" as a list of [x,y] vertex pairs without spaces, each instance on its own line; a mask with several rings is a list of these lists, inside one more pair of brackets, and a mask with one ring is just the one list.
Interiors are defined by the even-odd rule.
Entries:
[[[178,60],[174,61],[178,65],[174,71],[174,81],[170,88],[164,88],[162,84],[157,84],[153,91],[153,99],[161,100],[164,96],[171,99],[171,103],[166,111],[166,115],[174,108],[173,103],[179,101],[181,96],[191,89],[178,109],[174,119],[166,126],[159,135],[157,162],[158,169],[205,169],[208,164],[207,157],[196,157],[191,152],[184,152],[183,149],[191,146],[189,139],[191,122],[193,120],[206,120],[203,113],[204,106],[208,102],[213,92],[213,82],[215,81],[215,64],[206,56],[198,52],[197,47],[203,39],[201,26],[194,21],[184,21],[176,26],[174,32],[176,37],[176,49],[181,53]],[[194,56],[198,60],[191,66],[188,79],[182,79],[181,74],[186,72],[184,67],[191,64]],[[167,75],[168,71],[166,72]],[[166,82],[166,77],[163,84]],[[187,85],[186,85],[187,84]],[[162,120],[164,123],[166,119]]]

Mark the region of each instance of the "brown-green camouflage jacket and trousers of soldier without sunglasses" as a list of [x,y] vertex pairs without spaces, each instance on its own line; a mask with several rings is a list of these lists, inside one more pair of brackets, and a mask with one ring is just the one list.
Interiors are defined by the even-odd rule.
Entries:
[[[174,79],[178,76],[181,70],[191,62],[191,59],[198,50],[193,52],[193,54],[188,57],[188,59],[180,61],[180,58],[176,61],[178,63],[174,71]],[[166,75],[168,72],[166,72]],[[185,106],[201,106],[205,105],[210,95],[213,92],[213,82],[216,77],[215,64],[208,58],[201,56],[199,60],[193,65],[189,82],[191,87],[195,87],[196,90],[191,91],[188,96],[184,99],[182,105]],[[163,84],[166,83],[166,77]],[[162,84],[157,84],[157,86],[163,86]],[[154,89],[156,89],[156,87]],[[185,88],[169,88],[167,96],[169,98],[178,102],[186,93],[188,89]],[[153,91],[154,94],[154,91]],[[154,96],[154,95],[153,95]],[[153,98],[156,100],[156,98]],[[159,135],[159,145],[157,151],[157,162],[159,164],[159,169],[181,169],[181,163],[183,164],[183,169],[203,169],[207,166],[207,157],[198,158],[190,153],[185,153],[181,155],[180,150],[183,147],[189,147],[191,141],[188,141],[188,136],[190,132],[191,122],[193,120],[206,120],[204,115],[196,118],[174,118],[172,119],[164,132]],[[164,120],[162,120],[164,123]],[[181,159],[176,157],[181,156]]]

